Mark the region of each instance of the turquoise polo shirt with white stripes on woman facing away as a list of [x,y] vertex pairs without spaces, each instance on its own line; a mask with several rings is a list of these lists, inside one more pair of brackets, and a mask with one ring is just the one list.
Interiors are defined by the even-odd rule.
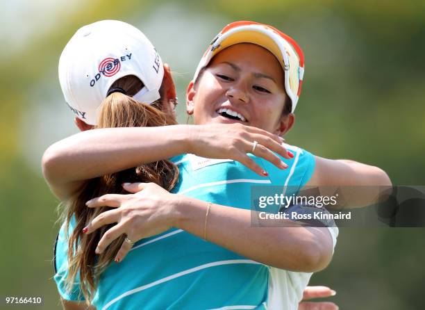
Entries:
[[[268,177],[260,177],[235,161],[184,154],[171,158],[180,172],[172,193],[240,209],[251,207],[251,187],[301,188],[315,167],[314,156],[288,146],[294,158],[281,170],[251,156]],[[72,231],[74,218],[69,225]],[[55,251],[54,279],[65,300],[82,300],[79,279],[65,289],[67,236],[61,227]],[[170,229],[133,245],[120,263],[101,274],[92,304],[97,309],[267,309],[269,266],[189,234]]]

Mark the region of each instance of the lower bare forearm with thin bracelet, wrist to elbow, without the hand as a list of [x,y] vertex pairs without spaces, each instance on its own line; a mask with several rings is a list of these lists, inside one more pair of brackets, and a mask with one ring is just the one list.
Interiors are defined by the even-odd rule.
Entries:
[[[182,196],[176,209],[176,227],[202,238],[206,202]],[[276,227],[255,227],[251,212],[213,204],[208,212],[207,239],[254,261],[286,270],[315,272],[331,261],[333,244],[327,228],[294,227],[290,220],[267,220],[274,222],[267,222],[268,226]]]

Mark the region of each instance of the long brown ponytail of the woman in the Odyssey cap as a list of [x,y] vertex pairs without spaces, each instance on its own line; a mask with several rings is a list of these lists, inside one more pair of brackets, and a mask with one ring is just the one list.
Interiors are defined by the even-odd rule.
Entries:
[[[158,127],[176,124],[171,115],[163,113],[162,101],[154,104],[143,104],[132,97],[143,87],[142,82],[135,76],[124,76],[112,86],[126,90],[128,95],[114,92],[101,104],[98,124],[96,128],[111,127]],[[160,88],[160,95],[164,97],[164,89]],[[153,182],[166,190],[172,190],[178,181],[178,168],[167,160],[139,165],[124,171],[106,174],[86,181],[78,193],[65,202],[65,231],[68,231],[69,222],[75,217],[76,225],[69,236],[68,243],[68,276],[67,289],[72,290],[76,276],[80,277],[80,289],[87,304],[90,304],[97,288],[99,275],[115,259],[119,248],[124,242],[125,235],[111,243],[102,254],[95,254],[94,250],[101,236],[113,227],[106,225],[92,234],[83,234],[82,229],[102,212],[111,210],[110,207],[88,208],[85,202],[107,193],[127,194],[122,188],[124,182]],[[81,297],[81,296],[80,296]]]

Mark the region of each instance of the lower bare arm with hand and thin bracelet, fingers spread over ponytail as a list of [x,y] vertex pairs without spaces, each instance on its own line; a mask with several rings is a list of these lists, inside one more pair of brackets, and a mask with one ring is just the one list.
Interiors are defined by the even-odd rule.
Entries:
[[[124,188],[133,195],[108,194],[94,198],[88,207],[115,206],[92,220],[87,233],[117,223],[103,234],[96,252],[101,253],[122,234],[133,242],[177,227],[237,252],[242,256],[287,270],[314,272],[331,261],[333,240],[327,228],[297,227],[290,220],[267,220],[267,227],[251,223],[251,211],[211,204],[168,193],[154,183],[132,183]],[[206,230],[205,230],[206,229]],[[117,254],[121,261],[131,245],[124,242]]]

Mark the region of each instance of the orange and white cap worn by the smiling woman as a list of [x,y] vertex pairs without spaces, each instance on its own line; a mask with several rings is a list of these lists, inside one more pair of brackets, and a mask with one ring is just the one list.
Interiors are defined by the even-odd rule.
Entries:
[[228,24],[203,54],[193,80],[196,81],[199,72],[210,63],[215,55],[226,47],[238,43],[257,44],[274,54],[285,72],[285,91],[292,101],[291,112],[294,113],[303,82],[304,55],[294,39],[273,26],[249,21]]

